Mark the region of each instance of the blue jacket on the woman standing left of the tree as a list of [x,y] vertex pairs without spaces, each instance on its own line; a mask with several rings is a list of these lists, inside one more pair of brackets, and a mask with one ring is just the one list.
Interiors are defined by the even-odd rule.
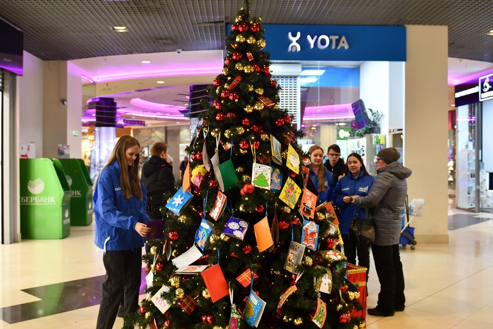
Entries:
[[93,193],[96,246],[117,251],[141,248],[144,245],[145,238],[135,230],[137,222],[145,224],[149,220],[145,213],[145,187],[142,183],[141,188],[142,200],[133,194],[130,199],[123,195],[118,161],[101,171]]

